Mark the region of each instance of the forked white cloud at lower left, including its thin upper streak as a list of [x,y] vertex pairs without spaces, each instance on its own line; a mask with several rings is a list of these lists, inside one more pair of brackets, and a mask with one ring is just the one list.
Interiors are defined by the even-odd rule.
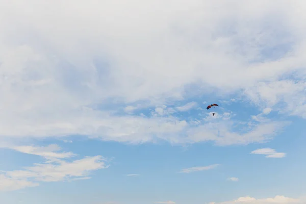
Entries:
[[40,182],[77,181],[90,179],[91,171],[108,168],[106,159],[102,156],[85,157],[71,162],[65,161],[72,152],[56,153],[61,148],[56,145],[48,146],[11,146],[11,149],[24,154],[44,157],[45,162],[23,167],[23,170],[2,171],[0,173],[0,191],[13,191],[26,187],[35,187]]

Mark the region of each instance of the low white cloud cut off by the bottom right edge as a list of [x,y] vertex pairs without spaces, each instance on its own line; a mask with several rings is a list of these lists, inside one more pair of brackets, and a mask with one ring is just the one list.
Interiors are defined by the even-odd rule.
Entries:
[[293,204],[293,203],[304,203],[304,200],[296,199],[296,198],[289,198],[281,195],[277,195],[274,198],[262,198],[257,199],[254,197],[239,197],[236,200],[225,201],[225,202],[210,202],[210,204],[234,204],[234,203],[249,203],[249,204],[272,204],[272,203],[279,203],[279,204]]

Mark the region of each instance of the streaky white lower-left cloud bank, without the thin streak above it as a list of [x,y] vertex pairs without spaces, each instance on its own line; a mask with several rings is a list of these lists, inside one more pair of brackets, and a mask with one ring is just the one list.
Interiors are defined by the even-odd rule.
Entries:
[[101,156],[87,157],[73,162],[49,160],[43,164],[24,167],[25,170],[3,171],[0,191],[14,191],[39,186],[40,182],[75,181],[90,179],[90,171],[108,168]]

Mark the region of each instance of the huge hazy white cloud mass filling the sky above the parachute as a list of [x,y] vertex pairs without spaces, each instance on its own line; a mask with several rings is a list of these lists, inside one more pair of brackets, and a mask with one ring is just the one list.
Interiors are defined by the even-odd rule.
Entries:
[[[130,112],[147,105],[176,107],[212,92],[226,99],[241,90],[254,104],[306,117],[305,15],[295,10],[304,3],[91,2],[45,7],[16,1],[0,9],[6,16],[0,22],[0,137],[181,141],[177,132],[184,121],[169,122],[166,114],[159,123]],[[296,82],[285,79],[289,74]],[[171,136],[144,131],[150,126],[170,126]]]

